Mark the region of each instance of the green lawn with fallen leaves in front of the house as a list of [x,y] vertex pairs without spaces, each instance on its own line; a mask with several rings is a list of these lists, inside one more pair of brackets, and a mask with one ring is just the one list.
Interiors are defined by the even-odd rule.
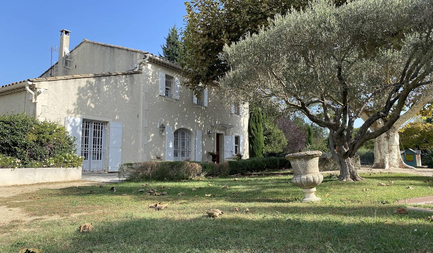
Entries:
[[[367,181],[346,183],[325,178],[317,187],[317,195],[323,199],[316,203],[299,201],[301,189],[287,183],[291,176],[148,182],[152,189],[165,186],[158,190],[167,191],[168,196],[159,197],[133,193],[145,182],[41,189],[0,198],[0,205],[56,217],[14,221],[2,227],[0,252],[17,252],[24,246],[50,253],[431,252],[433,223],[427,221],[428,215],[394,215],[396,200],[433,195],[427,187],[433,184],[423,183],[428,178],[395,173],[362,176]],[[389,180],[394,184],[377,186]],[[224,185],[229,188],[222,189]],[[116,186],[115,193],[109,191],[111,186]],[[191,191],[193,187],[196,192]],[[370,191],[363,192],[363,188]],[[187,195],[178,196],[178,192]],[[29,200],[30,196],[41,199],[11,202]],[[168,203],[168,209],[148,208],[156,202]],[[233,212],[233,207],[241,211]],[[207,218],[203,211],[208,208],[225,214]],[[242,212],[245,208],[249,213]],[[78,233],[78,226],[85,222],[93,223],[92,233]]]

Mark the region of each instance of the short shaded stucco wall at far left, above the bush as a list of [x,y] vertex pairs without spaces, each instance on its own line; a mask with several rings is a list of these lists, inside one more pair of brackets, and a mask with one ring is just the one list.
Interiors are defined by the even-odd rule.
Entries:
[[25,91],[0,96],[0,114],[16,114],[25,112],[34,115],[35,104],[29,100],[29,93]]

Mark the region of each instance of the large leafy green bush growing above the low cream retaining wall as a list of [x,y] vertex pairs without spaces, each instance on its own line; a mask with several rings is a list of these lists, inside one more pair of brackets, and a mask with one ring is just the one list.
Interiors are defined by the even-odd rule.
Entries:
[[25,114],[0,116],[0,154],[18,159],[19,167],[79,167],[83,157],[74,155],[74,141],[57,123]]

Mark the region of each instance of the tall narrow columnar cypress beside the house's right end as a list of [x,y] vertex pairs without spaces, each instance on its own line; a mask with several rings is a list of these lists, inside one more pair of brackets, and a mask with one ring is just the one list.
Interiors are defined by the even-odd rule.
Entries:
[[263,157],[263,115],[262,109],[253,108],[248,122],[249,156]]

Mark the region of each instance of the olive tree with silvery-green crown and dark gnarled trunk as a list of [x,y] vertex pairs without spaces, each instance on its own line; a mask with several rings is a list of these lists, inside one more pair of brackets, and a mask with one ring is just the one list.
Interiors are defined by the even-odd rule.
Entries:
[[[304,113],[329,129],[339,180],[363,180],[356,151],[391,129],[407,99],[432,83],[432,29],[430,0],[355,0],[339,8],[316,0],[224,47],[222,98]],[[352,136],[369,107],[375,112]]]

